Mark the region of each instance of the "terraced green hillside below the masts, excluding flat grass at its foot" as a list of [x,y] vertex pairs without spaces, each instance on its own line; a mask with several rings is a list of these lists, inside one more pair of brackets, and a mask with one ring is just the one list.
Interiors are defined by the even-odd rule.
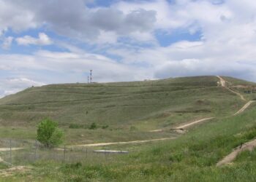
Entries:
[[31,87],[0,100],[0,122],[34,125],[50,117],[64,125],[91,122],[118,125],[138,124],[139,120],[153,118],[168,125],[184,122],[195,114],[222,116],[240,108],[243,102],[232,92],[217,87],[217,82],[217,76],[197,76]]

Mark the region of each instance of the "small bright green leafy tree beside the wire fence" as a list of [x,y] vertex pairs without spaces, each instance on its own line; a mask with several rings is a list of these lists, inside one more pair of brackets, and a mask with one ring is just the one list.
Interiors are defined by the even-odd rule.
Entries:
[[43,119],[37,128],[37,141],[47,148],[53,148],[61,144],[64,133],[58,128],[58,124],[50,119]]

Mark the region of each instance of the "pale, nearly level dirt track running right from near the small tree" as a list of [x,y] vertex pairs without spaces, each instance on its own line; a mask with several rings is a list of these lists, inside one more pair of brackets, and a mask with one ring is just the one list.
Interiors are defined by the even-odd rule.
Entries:
[[172,138],[159,138],[159,139],[152,139],[152,140],[146,140],[146,141],[121,141],[121,142],[110,142],[110,143],[92,143],[92,144],[82,144],[82,145],[75,145],[75,146],[69,146],[69,147],[78,147],[78,146],[110,146],[114,144],[127,144],[127,143],[146,143],[150,141],[165,141],[165,140],[172,140],[175,139]]

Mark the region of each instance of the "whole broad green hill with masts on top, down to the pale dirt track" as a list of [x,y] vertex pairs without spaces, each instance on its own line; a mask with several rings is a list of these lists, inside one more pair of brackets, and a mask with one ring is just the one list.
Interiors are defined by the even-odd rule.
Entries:
[[[34,139],[36,126],[45,117],[64,128],[66,143],[170,137],[177,135],[170,128],[178,124],[227,116],[244,105],[245,101],[217,82],[217,76],[196,76],[30,87],[0,99],[0,137]],[[99,128],[88,130],[93,122]],[[150,132],[159,129],[165,132]]]

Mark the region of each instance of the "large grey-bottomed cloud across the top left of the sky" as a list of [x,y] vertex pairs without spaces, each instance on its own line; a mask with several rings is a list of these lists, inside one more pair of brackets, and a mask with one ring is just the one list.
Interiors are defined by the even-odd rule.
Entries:
[[[88,8],[86,2],[88,1],[0,0],[0,31],[3,28],[22,31],[44,25],[56,33],[80,41],[100,41],[101,34],[105,33],[118,37],[154,29],[154,10],[137,8],[124,13],[113,7]],[[31,41],[31,37],[26,39]]]

